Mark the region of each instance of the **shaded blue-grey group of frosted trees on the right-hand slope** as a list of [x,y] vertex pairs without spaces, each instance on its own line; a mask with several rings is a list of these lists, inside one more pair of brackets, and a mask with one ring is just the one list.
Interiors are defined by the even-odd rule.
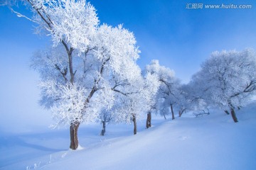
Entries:
[[256,53],[251,49],[213,52],[188,84],[181,84],[157,60],[146,70],[156,74],[160,83],[151,109],[164,117],[171,113],[172,119],[174,108],[181,116],[184,111],[208,114],[210,108],[217,107],[237,123],[235,109],[245,106],[256,92]]

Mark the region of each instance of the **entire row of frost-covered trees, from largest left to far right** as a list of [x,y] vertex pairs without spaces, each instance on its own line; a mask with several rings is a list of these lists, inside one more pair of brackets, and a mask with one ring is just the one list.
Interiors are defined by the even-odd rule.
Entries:
[[133,33],[100,25],[95,8],[85,0],[23,0],[33,11],[28,18],[37,33],[51,36],[53,47],[38,50],[31,66],[41,75],[41,105],[50,109],[54,127],[70,126],[70,148],[78,148],[80,123],[100,120],[134,123],[151,113],[166,118],[174,111],[206,111],[211,106],[231,113],[256,89],[255,52],[215,52],[202,64],[191,82],[181,84],[174,71],[153,60],[142,70]]

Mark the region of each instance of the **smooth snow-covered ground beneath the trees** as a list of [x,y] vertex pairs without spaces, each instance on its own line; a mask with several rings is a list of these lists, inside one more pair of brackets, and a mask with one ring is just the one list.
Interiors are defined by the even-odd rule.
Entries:
[[[1,132],[0,169],[256,169],[256,103],[237,111],[238,123],[223,111],[175,120],[153,116],[153,127],[82,125],[80,148],[71,151],[69,131]],[[41,130],[42,131],[42,130]]]

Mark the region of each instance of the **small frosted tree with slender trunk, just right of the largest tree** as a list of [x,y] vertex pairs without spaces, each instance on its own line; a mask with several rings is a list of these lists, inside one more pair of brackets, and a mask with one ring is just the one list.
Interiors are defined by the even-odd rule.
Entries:
[[117,104],[113,107],[114,121],[133,123],[134,135],[136,135],[137,120],[150,111],[158,87],[157,77],[152,74],[146,74],[145,77],[139,74],[134,79],[134,83],[123,82],[117,89],[122,93],[119,93]]

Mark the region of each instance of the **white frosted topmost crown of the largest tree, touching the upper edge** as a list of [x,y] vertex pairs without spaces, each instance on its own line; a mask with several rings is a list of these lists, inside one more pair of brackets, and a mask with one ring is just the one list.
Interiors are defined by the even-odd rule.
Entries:
[[87,45],[90,44],[99,24],[94,6],[84,0],[26,0],[25,2],[33,6],[33,21],[38,23],[38,31],[47,30],[54,45],[64,40],[80,52],[87,50]]

